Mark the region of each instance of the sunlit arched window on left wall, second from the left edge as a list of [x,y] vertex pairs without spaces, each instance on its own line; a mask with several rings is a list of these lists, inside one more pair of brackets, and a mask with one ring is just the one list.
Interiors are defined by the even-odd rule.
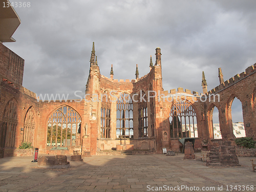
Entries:
[[27,111],[25,121],[24,121],[23,142],[30,142],[33,144],[34,130],[35,130],[35,113],[31,106]]

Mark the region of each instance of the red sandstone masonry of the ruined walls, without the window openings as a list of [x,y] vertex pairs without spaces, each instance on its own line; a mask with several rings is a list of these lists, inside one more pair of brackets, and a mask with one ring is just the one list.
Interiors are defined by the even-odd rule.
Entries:
[[[46,146],[47,143],[47,123],[49,115],[53,110],[59,108],[61,105],[67,105],[73,108],[82,118],[81,125],[81,142],[82,152],[91,152],[92,155],[96,154],[97,148],[104,144],[105,147],[116,147],[116,144],[120,144],[119,140],[115,139],[115,129],[116,129],[116,103],[111,106],[111,137],[112,139],[100,138],[100,108],[101,102],[86,102],[82,100],[81,102],[71,102],[71,101],[39,101],[36,100],[35,93],[23,88],[22,77],[23,77],[23,67],[24,60],[13,52],[11,52],[5,46],[0,45],[0,74],[1,74],[1,84],[0,84],[0,129],[2,127],[3,113],[6,104],[10,99],[15,99],[17,105],[17,115],[18,115],[18,125],[15,137],[15,146],[23,141],[23,132],[21,131],[24,127],[24,120],[26,113],[30,108],[33,109],[35,114],[35,132],[33,146],[39,148],[39,153],[64,153],[50,151],[51,147]],[[158,49],[159,51],[159,49]],[[157,55],[159,57],[159,53]],[[8,67],[9,63],[11,65]],[[161,61],[158,61],[158,66],[154,66],[150,73],[140,77],[139,79],[110,79],[100,74],[99,67],[96,65],[91,66],[90,75],[88,77],[86,93],[87,100],[92,98],[92,94],[103,94],[104,91],[117,91],[117,93],[125,92],[131,95],[139,93],[143,90],[145,93],[147,91],[158,91],[160,94],[167,96],[168,94],[173,94],[175,98],[186,99],[195,109],[197,115],[197,125],[198,125],[198,135],[199,138],[195,142],[195,150],[200,151],[202,149],[202,140],[206,140],[208,145],[212,144],[212,130],[210,127],[210,111],[213,106],[216,106],[220,113],[220,126],[223,136],[223,140],[233,140],[232,134],[232,119],[231,119],[231,101],[234,97],[238,97],[242,102],[243,106],[243,117],[245,123],[245,129],[247,136],[253,136],[256,139],[256,109],[255,109],[255,95],[256,95],[256,81],[255,81],[255,67],[248,67],[245,72],[236,75],[224,83],[220,84],[215,89],[208,92],[220,94],[220,102],[218,101],[206,101],[201,102],[199,99],[198,92],[192,92],[183,88],[178,88],[168,91],[164,91],[162,88],[162,73],[161,73]],[[17,73],[10,74],[6,76],[8,70],[16,70]],[[20,70],[20,71],[19,71]],[[9,73],[8,73],[9,74]],[[21,79],[20,79],[21,78]],[[4,79],[4,80],[3,80]],[[193,101],[193,95],[196,95],[196,101]],[[195,98],[194,98],[195,100]],[[129,144],[133,144],[134,148],[137,150],[151,150],[157,153],[162,153],[162,147],[170,148],[173,151],[178,151],[180,142],[177,138],[170,138],[169,133],[169,113],[174,102],[168,102],[163,100],[158,100],[158,97],[153,99],[154,109],[151,111],[150,103],[147,103],[148,109],[148,138],[138,138],[138,104],[133,104],[133,117],[134,117],[134,139],[127,141]],[[151,116],[152,115],[152,116]],[[152,123],[154,122],[154,124]],[[150,130],[151,124],[154,125],[153,130]],[[86,131],[85,131],[86,129]],[[166,141],[162,140],[162,133],[167,132],[168,139]],[[0,130],[2,133],[2,130]],[[1,138],[1,137],[0,137]],[[100,138],[100,139],[99,139]],[[80,146],[71,146],[67,150],[69,154],[72,154],[73,150]],[[12,156],[14,153],[14,148],[6,148],[6,155]],[[1,153],[1,148],[0,148]],[[66,152],[65,152],[66,153]],[[0,154],[1,156],[1,154]]]

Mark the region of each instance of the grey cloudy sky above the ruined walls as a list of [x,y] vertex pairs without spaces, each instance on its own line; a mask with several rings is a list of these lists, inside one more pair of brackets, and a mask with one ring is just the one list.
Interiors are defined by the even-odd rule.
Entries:
[[[101,74],[110,77],[113,64],[115,79],[134,79],[136,64],[140,77],[147,74],[150,55],[155,63],[160,47],[164,90],[202,93],[202,71],[211,90],[219,85],[219,67],[227,80],[256,62],[254,0],[33,0],[30,5],[15,8],[21,19],[16,42],[4,45],[25,59],[23,86],[37,94],[84,92],[93,41]],[[241,112],[232,116],[241,121]]]

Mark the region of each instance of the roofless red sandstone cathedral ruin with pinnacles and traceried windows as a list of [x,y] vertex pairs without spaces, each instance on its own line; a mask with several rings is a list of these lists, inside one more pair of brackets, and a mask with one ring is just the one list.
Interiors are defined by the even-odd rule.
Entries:
[[23,87],[25,61],[3,45],[13,40],[14,31],[8,38],[0,34],[0,157],[14,156],[22,142],[52,155],[72,155],[74,150],[91,155],[116,150],[162,153],[163,147],[180,152],[182,138],[193,138],[195,151],[209,150],[220,140],[214,134],[214,108],[221,139],[235,138],[234,98],[242,103],[246,136],[256,139],[256,64],[226,81],[219,68],[220,84],[210,91],[203,73],[202,94],[183,88],[164,91],[160,48],[154,63],[151,57],[149,66],[141,66],[150,69],[148,74],[139,77],[137,66],[135,79],[118,80],[113,66],[109,77],[100,73],[93,44],[86,97],[46,102]]

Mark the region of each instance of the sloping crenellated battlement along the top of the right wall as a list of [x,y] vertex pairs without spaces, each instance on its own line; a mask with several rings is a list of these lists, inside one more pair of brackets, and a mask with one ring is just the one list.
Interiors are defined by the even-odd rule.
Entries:
[[237,83],[238,81],[248,77],[249,75],[251,75],[255,72],[256,72],[256,63],[253,66],[248,67],[245,70],[245,72],[242,72],[240,74],[237,74],[237,75],[231,77],[230,79],[226,80],[225,82],[219,84],[219,86],[217,86],[216,88],[208,91],[208,93],[206,93],[206,95],[216,94],[216,93],[220,92],[221,90],[228,88],[232,84]]

